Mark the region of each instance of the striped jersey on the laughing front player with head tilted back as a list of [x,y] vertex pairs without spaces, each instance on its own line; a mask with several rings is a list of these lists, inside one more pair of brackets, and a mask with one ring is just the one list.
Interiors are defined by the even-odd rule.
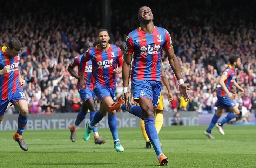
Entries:
[[162,81],[161,56],[163,49],[171,48],[171,36],[161,27],[154,26],[152,33],[147,34],[141,27],[133,30],[126,37],[124,52],[134,54],[132,63],[132,80]]

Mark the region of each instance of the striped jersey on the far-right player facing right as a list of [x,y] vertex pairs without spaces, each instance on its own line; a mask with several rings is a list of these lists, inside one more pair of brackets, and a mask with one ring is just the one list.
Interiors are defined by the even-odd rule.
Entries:
[[[227,86],[228,91],[231,92],[232,86],[236,79],[236,70],[232,69],[232,67],[229,65],[227,68],[224,69],[222,75],[225,75],[227,77],[227,79],[225,80],[225,85]],[[220,89],[218,89],[217,91],[217,95],[227,96],[227,93],[220,87]]]

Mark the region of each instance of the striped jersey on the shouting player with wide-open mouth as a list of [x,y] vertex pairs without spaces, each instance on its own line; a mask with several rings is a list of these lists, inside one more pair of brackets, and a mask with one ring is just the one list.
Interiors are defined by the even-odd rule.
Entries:
[[85,68],[86,62],[92,60],[93,86],[101,85],[116,88],[116,76],[113,72],[116,68],[123,66],[122,51],[113,44],[108,44],[107,51],[101,51],[96,47],[87,50],[81,57],[80,70]]

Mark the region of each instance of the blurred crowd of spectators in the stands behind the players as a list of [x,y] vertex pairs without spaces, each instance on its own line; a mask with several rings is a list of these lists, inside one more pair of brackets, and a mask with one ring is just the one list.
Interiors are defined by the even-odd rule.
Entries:
[[[26,4],[26,5],[25,5]],[[122,51],[127,34],[137,28],[134,15],[142,5],[149,6],[154,25],[171,35],[173,47],[185,83],[191,88],[191,101],[179,99],[177,79],[167,56],[162,56],[174,100],[169,103],[163,85],[164,111],[214,113],[217,81],[229,64],[229,56],[239,55],[242,66],[237,83],[244,94],[235,93],[235,102],[246,107],[246,118],[256,112],[256,1],[233,3],[212,1],[111,1],[110,43]],[[82,54],[86,41],[97,44],[97,30],[102,28],[102,3],[74,0],[66,5],[60,0],[10,0],[0,11],[0,45],[13,37],[22,43],[20,71],[30,113],[79,112],[81,100],[76,79],[67,67]],[[75,69],[77,71],[77,69]],[[116,97],[123,94],[122,76],[117,76]],[[95,98],[97,108],[99,100]],[[120,111],[122,112],[122,111]],[[14,106],[6,113],[18,113]]]

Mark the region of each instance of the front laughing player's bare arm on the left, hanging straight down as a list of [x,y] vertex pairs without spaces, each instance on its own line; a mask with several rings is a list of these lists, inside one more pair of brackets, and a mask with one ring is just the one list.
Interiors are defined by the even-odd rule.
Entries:
[[125,91],[125,88],[128,90],[129,79],[130,79],[130,69],[131,69],[132,55],[128,55],[124,53],[124,61],[122,67],[122,78],[123,78],[123,87],[124,87],[124,100],[125,106],[128,110],[130,110],[130,102],[129,102],[129,92]]

